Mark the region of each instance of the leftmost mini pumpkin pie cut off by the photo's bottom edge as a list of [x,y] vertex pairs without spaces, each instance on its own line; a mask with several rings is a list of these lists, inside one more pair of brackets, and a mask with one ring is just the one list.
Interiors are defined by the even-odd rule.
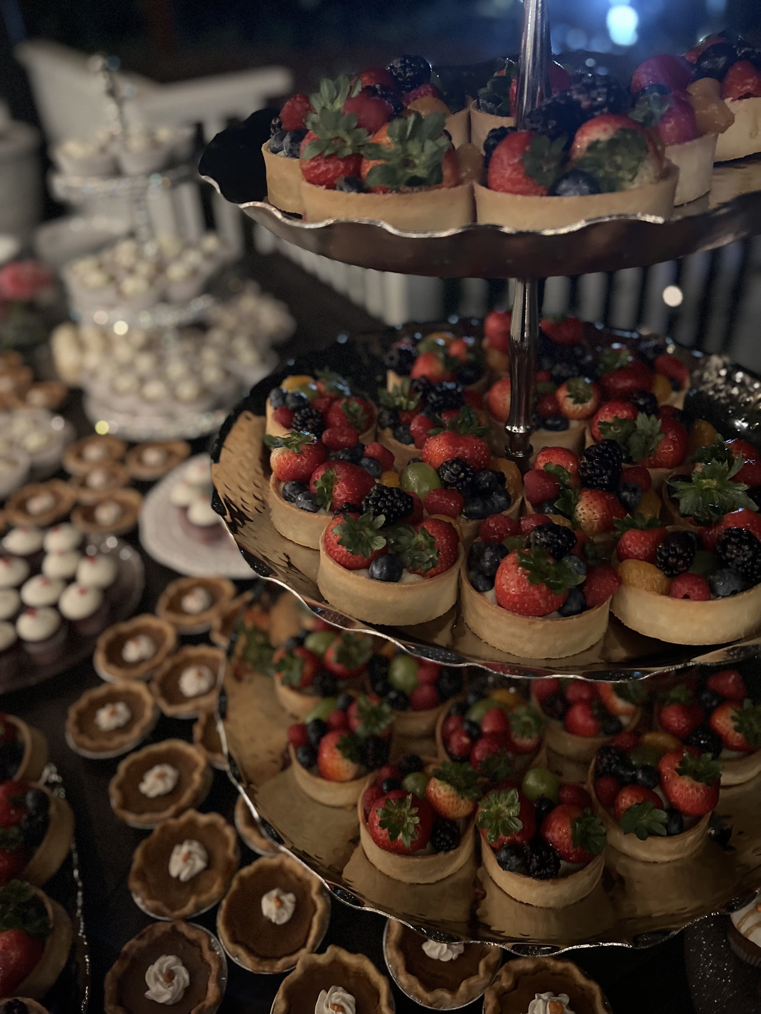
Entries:
[[106,1014],[212,1014],[222,1002],[222,957],[210,933],[153,923],[122,948],[106,975]]

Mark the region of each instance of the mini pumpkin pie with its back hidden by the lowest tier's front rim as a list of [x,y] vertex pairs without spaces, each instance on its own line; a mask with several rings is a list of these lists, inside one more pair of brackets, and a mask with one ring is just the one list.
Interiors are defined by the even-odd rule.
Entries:
[[428,940],[395,919],[384,930],[384,957],[400,990],[434,1010],[478,1000],[502,962],[501,950],[492,944]]

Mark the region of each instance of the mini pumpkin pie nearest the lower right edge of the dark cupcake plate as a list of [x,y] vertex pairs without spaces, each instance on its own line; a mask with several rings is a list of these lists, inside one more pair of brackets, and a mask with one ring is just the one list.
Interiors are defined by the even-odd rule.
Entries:
[[97,639],[92,664],[101,679],[147,679],[175,650],[177,633],[148,612],[103,631]]

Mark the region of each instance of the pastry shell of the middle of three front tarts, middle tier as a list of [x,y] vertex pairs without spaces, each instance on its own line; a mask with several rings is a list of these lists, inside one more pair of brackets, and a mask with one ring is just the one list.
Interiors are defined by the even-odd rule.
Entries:
[[495,605],[468,580],[467,563],[461,567],[460,602],[463,619],[474,634],[493,648],[527,658],[564,658],[585,651],[605,635],[610,599],[575,617],[547,620],[522,617]]

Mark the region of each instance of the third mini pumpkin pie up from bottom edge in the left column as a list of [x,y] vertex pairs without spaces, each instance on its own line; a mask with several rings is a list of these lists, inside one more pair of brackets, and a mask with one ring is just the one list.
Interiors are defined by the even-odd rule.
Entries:
[[120,820],[150,828],[197,806],[210,785],[206,757],[183,739],[165,739],[120,762],[109,798]]

